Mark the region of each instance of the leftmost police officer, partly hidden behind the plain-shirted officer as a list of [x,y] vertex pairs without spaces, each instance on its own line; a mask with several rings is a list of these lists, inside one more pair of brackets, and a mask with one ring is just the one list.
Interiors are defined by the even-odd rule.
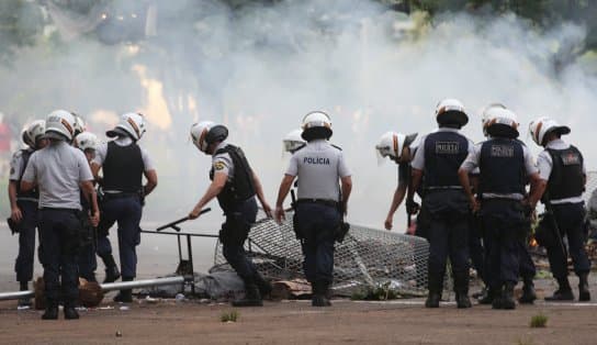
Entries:
[[[23,178],[31,155],[47,145],[47,140],[43,137],[44,133],[44,120],[32,122],[23,131],[23,143],[27,147],[15,152],[10,163],[10,219],[13,224],[16,224],[19,230],[19,255],[16,256],[14,271],[16,272],[16,281],[19,281],[21,291],[29,290],[29,281],[33,279],[35,227],[37,227],[37,202],[40,196],[35,189],[30,192],[22,191],[21,179]],[[19,300],[19,307],[30,305],[31,300],[29,298]]]

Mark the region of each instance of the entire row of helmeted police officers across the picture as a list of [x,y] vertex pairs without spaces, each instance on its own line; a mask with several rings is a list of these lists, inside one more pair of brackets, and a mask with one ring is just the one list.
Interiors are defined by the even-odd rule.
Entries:
[[[426,307],[439,307],[448,257],[459,308],[471,307],[470,258],[488,288],[481,302],[493,303],[496,309],[514,309],[514,287],[522,276],[520,302],[532,303],[534,266],[525,238],[530,216],[547,194],[544,202],[553,213],[556,236],[545,240],[544,245],[560,285],[549,299],[574,299],[567,280],[568,253],[562,243],[566,236],[579,277],[579,300],[589,300],[589,261],[583,246],[585,167],[578,149],[561,140],[570,129],[548,118],[531,123],[533,141],[545,147],[538,157],[538,168],[528,148],[517,140],[516,115],[503,105],[493,104],[484,111],[487,141],[477,145],[459,132],[469,121],[460,101],[441,101],[436,120],[438,130],[424,136],[418,147],[413,145],[416,134],[392,132],[376,145],[382,156],[399,166],[386,229],[392,227],[393,215],[406,196],[409,213],[418,212],[417,234],[430,244]],[[26,289],[33,275],[37,226],[46,296],[43,319],[57,319],[60,302],[66,319],[78,318],[77,276],[95,280],[95,254],[105,265],[104,282],[121,276],[123,281],[135,278],[144,199],[157,186],[153,163],[137,145],[145,133],[142,114],[122,115],[120,123],[106,132],[113,140],[101,145],[97,136],[85,132],[81,122],[61,110],[50,113],[45,122],[34,122],[23,133],[29,148],[18,152],[12,162],[11,221],[20,231],[15,270],[21,288]],[[270,282],[247,256],[244,244],[256,221],[258,202],[268,216],[282,222],[283,203],[293,186],[293,225],[303,248],[305,276],[313,289],[312,304],[331,305],[334,247],[347,231],[343,219],[352,180],[341,148],[329,143],[330,116],[323,111],[311,112],[303,118],[301,130],[284,140],[286,151],[293,155],[274,209],[267,202],[258,175],[243,149],[227,142],[226,126],[205,121],[193,124],[190,132],[200,152],[212,157],[212,182],[189,218],[199,218],[213,199],[223,209],[223,254],[246,288],[245,297],[233,305],[262,305],[262,298],[271,292]],[[100,202],[94,182],[101,186]],[[420,207],[414,201],[415,192],[423,200]],[[108,240],[108,230],[114,223],[119,232],[120,271]],[[131,290],[122,290],[115,300],[131,302]]]

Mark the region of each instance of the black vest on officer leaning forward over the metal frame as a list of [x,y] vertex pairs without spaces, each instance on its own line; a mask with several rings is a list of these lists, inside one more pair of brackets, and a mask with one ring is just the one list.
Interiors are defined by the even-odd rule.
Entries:
[[[235,204],[255,196],[255,183],[252,170],[247,157],[240,147],[226,145],[219,148],[214,155],[228,154],[234,164],[234,176],[228,178],[224,189],[217,194],[217,202],[224,211],[232,209]],[[210,179],[214,179],[214,168],[210,171]]]

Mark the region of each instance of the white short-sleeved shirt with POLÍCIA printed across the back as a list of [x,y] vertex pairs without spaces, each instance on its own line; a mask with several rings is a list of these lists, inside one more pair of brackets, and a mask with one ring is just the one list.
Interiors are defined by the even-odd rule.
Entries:
[[298,177],[298,199],[340,201],[339,179],[351,174],[340,149],[316,140],[292,155],[286,175]]

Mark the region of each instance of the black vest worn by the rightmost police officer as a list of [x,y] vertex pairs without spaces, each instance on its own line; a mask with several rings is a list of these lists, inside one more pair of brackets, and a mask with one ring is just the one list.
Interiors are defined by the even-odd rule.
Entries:
[[566,149],[548,148],[553,160],[548,194],[551,200],[581,197],[585,191],[583,155],[578,148],[570,146]]

